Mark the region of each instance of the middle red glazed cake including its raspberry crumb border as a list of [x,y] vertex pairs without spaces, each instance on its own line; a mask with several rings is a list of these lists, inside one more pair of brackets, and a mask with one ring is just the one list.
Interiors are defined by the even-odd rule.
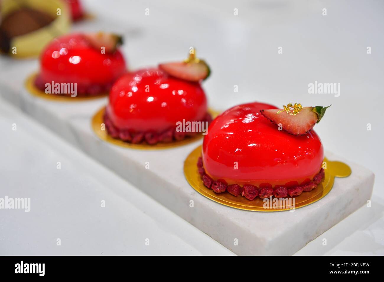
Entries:
[[119,78],[111,88],[104,114],[108,134],[125,142],[149,145],[198,134],[178,130],[181,122],[211,121],[200,85],[202,77],[192,74],[190,67],[195,68],[188,65],[187,71],[181,70],[182,79],[176,77],[180,69],[174,76],[160,68],[141,69]]

